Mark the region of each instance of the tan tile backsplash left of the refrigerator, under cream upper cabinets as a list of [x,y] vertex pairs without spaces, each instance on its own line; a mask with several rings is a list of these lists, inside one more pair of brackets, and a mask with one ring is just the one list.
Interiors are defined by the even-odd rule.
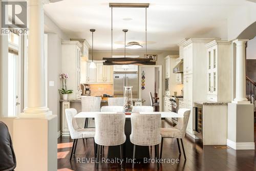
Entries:
[[91,96],[113,95],[113,84],[90,84]]

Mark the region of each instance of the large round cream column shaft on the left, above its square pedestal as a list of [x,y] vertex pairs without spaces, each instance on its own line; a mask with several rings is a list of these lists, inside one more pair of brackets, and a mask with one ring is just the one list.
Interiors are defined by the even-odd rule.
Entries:
[[46,104],[44,68],[44,3],[28,1],[28,92],[27,105],[20,117],[44,118],[49,109]]

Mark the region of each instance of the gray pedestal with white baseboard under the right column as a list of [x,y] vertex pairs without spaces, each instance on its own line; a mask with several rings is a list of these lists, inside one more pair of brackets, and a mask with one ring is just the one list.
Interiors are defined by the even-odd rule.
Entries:
[[227,145],[254,149],[253,104],[228,103]]

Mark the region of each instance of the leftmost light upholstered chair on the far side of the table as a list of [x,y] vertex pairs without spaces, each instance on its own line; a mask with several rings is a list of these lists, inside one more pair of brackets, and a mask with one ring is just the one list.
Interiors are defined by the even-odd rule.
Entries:
[[[81,105],[82,112],[100,112],[101,97],[82,96]],[[88,127],[89,118],[84,122],[84,128]]]

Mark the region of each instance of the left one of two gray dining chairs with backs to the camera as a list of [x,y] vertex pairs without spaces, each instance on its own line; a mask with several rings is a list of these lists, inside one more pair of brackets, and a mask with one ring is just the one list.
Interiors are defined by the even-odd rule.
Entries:
[[[120,158],[123,159],[122,144],[126,140],[124,134],[125,114],[96,114],[95,116],[95,136],[97,146],[96,166],[99,164],[99,152],[102,146],[119,145]],[[123,162],[122,162],[123,163]],[[121,168],[123,168],[121,164]]]

